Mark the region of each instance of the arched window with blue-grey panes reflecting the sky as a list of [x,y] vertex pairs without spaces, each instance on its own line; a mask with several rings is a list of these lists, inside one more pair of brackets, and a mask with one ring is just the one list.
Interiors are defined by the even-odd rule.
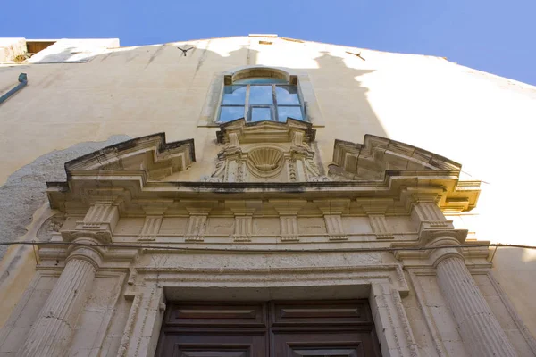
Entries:
[[255,68],[225,76],[219,122],[305,120],[306,113],[296,76]]

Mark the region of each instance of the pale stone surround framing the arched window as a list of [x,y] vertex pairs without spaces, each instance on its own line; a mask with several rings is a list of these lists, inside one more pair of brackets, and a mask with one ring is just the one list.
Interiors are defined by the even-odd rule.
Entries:
[[[259,74],[261,75],[259,76]],[[261,65],[241,66],[232,71],[216,73],[208,88],[205,103],[199,115],[199,120],[197,120],[197,127],[219,127],[221,123],[217,121],[217,116],[222,102],[223,87],[226,84],[231,84],[233,80],[247,77],[287,79],[290,84],[297,85],[306,110],[306,121],[311,122],[314,127],[324,127],[322,112],[316,100],[316,95],[314,95],[311,79],[309,79],[309,75],[306,72]]]

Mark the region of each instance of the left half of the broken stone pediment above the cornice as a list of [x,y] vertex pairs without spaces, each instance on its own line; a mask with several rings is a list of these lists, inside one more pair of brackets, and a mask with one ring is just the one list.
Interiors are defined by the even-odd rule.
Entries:
[[196,161],[194,139],[165,142],[165,134],[137,137],[107,146],[65,163],[67,175],[76,171],[142,170],[148,179],[163,179],[186,170]]

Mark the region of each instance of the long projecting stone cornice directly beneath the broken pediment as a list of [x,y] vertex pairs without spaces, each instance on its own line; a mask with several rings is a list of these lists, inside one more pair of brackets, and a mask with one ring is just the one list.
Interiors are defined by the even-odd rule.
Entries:
[[[95,195],[121,194],[121,211],[128,210],[130,203],[149,206],[156,197],[159,200],[270,200],[270,199],[348,199],[353,204],[370,206],[373,200],[381,199],[386,212],[395,208],[398,212],[410,212],[415,203],[415,192],[433,190],[439,197],[441,209],[448,206],[450,197],[461,196],[473,206],[478,196],[478,187],[473,191],[456,190],[456,178],[450,172],[421,171],[422,176],[413,176],[404,171],[400,176],[388,174],[383,181],[325,181],[325,182],[157,182],[148,181],[144,171],[136,174],[120,171],[102,175],[77,175],[70,179],[69,185],[49,185],[47,195],[53,208],[66,211],[69,206],[87,206],[89,197]],[[415,172],[413,172],[415,174]],[[99,192],[101,194],[99,194]],[[473,200],[473,201],[471,201]],[[164,204],[165,205],[165,204]]]

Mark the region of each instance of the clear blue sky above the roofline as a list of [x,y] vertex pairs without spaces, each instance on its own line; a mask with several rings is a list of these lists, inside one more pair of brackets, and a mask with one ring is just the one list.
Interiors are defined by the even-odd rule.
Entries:
[[121,46],[277,33],[447,57],[536,85],[535,0],[4,1],[0,37],[119,37]]

